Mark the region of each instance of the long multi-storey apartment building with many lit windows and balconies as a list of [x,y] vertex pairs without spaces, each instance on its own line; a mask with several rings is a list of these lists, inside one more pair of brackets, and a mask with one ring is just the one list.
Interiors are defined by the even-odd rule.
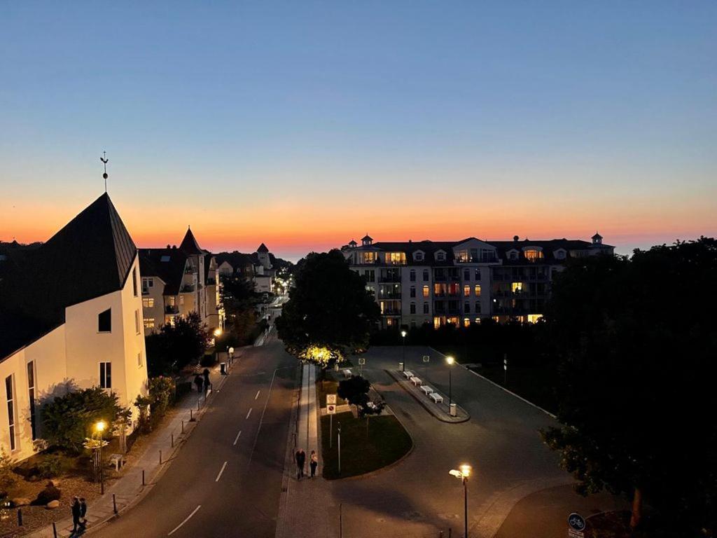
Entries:
[[341,250],[366,280],[381,326],[470,326],[484,318],[534,322],[543,314],[553,275],[569,258],[612,254],[598,234],[581,240],[374,242]]

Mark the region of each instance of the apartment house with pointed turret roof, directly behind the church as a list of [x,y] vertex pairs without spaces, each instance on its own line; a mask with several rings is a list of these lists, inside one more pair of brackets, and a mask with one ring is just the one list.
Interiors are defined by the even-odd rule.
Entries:
[[178,316],[190,312],[198,313],[212,332],[224,328],[217,260],[199,247],[191,229],[187,229],[179,247],[142,248],[139,259],[146,331],[174,325]]

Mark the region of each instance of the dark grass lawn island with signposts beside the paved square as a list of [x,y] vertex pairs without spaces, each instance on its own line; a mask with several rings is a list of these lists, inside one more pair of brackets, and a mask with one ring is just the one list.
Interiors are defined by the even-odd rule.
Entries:
[[[336,427],[341,423],[341,475],[338,474]],[[321,417],[323,477],[328,480],[376,471],[399,460],[411,450],[413,441],[393,415],[372,417],[366,436],[366,419],[348,413],[333,417],[333,447],[328,448],[329,417]]]

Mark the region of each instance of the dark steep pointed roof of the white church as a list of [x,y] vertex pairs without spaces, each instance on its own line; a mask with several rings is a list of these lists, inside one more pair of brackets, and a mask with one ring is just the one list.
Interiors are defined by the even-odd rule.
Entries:
[[0,263],[0,359],[65,322],[65,308],[122,289],[137,254],[107,193]]

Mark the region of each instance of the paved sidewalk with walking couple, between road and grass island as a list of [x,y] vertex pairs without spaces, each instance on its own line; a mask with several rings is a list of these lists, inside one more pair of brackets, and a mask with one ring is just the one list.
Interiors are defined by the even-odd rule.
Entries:
[[[300,396],[292,415],[292,427],[288,439],[284,463],[284,483],[277,517],[276,538],[328,538],[331,531],[329,514],[338,514],[328,483],[321,478],[320,431],[318,430],[318,406],[316,405],[316,367],[305,364],[302,371]],[[319,464],[316,478],[296,479],[294,454],[298,448],[306,452],[308,471],[311,450],[316,450]]]

